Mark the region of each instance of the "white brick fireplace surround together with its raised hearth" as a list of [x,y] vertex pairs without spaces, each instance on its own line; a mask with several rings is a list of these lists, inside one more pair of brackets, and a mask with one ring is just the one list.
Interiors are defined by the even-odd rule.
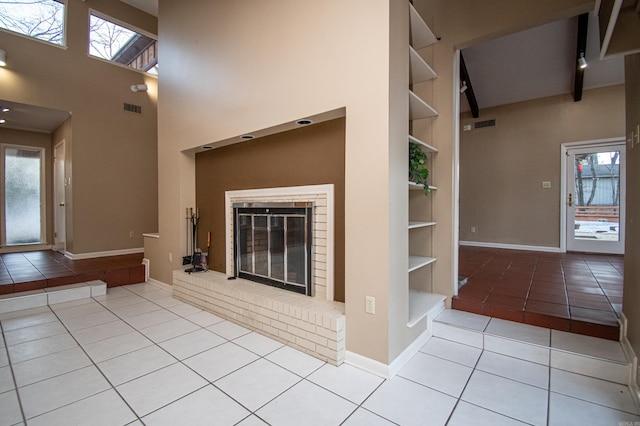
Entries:
[[[225,192],[226,274],[174,271],[178,299],[339,365],[345,353],[344,304],[334,297],[334,189],[309,185]],[[236,278],[234,204],[309,203],[313,205],[311,295],[293,293]]]

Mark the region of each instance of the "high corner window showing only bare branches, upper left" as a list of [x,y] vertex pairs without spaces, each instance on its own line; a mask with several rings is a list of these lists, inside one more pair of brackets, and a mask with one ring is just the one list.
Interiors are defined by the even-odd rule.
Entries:
[[0,1],[0,28],[64,45],[65,3],[57,0]]

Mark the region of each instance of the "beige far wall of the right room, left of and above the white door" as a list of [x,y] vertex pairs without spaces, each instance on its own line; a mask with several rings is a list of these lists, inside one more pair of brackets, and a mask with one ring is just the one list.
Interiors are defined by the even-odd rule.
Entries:
[[560,145],[621,137],[624,86],[465,113],[460,125],[490,119],[460,131],[460,240],[559,248]]

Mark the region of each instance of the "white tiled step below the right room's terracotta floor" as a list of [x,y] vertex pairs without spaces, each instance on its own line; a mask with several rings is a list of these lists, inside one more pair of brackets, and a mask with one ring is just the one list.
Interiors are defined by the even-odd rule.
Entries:
[[433,335],[490,352],[547,365],[551,368],[623,385],[629,384],[631,363],[514,340],[459,325],[447,324],[438,321],[437,318],[433,322]]

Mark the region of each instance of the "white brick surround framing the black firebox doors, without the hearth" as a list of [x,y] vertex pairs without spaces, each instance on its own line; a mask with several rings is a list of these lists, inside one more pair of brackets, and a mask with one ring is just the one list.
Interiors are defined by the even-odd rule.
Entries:
[[333,185],[290,186],[225,192],[226,271],[234,275],[233,204],[246,202],[313,203],[313,242],[311,279],[314,298],[333,300],[334,261],[334,189]]

